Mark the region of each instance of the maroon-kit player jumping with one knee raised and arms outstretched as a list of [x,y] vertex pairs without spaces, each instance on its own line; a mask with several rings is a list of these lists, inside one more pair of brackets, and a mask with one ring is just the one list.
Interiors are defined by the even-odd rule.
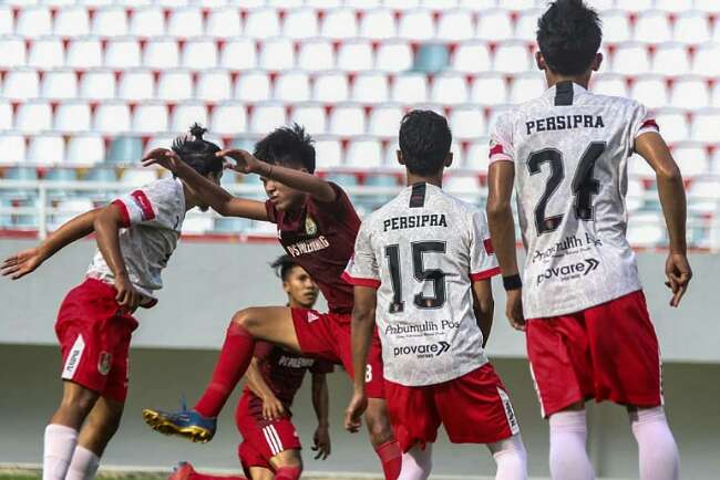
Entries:
[[[224,150],[217,155],[232,158],[236,163],[233,168],[241,174],[259,175],[268,200],[263,202],[232,196],[196,175],[171,150],[152,152],[145,164],[160,164],[175,173],[223,216],[277,223],[278,240],[318,283],[330,312],[289,306],[261,306],[237,312],[227,328],[210,383],[195,407],[176,414],[152,409],[143,413],[154,429],[195,441],[208,441],[213,437],[216,417],[247,369],[256,340],[342,363],[350,375],[353,372],[350,348],[352,286],[340,275],[352,255],[360,219],[347,194],[339,186],[313,175],[312,139],[297,124],[277,128],[263,138],[255,146],[255,155],[245,150]],[[387,417],[382,353],[377,337],[368,365],[360,375],[368,378],[370,401],[366,421],[370,440],[385,478],[394,480],[400,471],[402,453]]]

